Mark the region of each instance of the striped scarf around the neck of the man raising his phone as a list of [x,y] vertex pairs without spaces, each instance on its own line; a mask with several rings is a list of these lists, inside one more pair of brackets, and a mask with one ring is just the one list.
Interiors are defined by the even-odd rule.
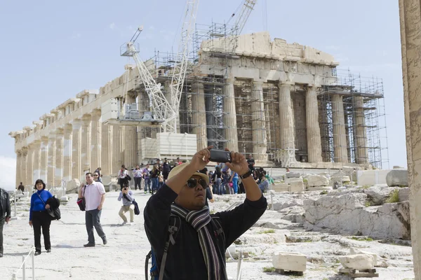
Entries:
[[210,235],[208,228],[206,228],[206,225],[212,221],[212,217],[209,215],[209,208],[206,206],[199,211],[188,211],[176,204],[172,204],[171,214],[183,218],[187,223],[192,225],[196,232],[198,232],[203,259],[208,268],[208,279],[226,280],[227,274],[225,263],[218,258],[219,248],[213,243],[212,236]]

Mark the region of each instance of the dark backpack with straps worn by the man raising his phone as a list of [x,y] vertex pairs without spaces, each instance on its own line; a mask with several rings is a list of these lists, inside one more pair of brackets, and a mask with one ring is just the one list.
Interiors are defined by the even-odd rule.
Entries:
[[[210,223],[213,223],[213,227],[216,228],[215,235],[222,235],[222,238],[225,242],[225,235],[224,235],[224,229],[222,228],[221,223],[218,221],[219,217],[212,217],[212,221]],[[159,270],[158,265],[156,264],[156,256],[154,254],[154,250],[151,248],[151,251],[147,253],[146,260],[145,260],[145,279],[148,278],[148,274],[150,276],[151,280],[163,280],[163,271],[165,270],[165,263],[166,258],[168,255],[168,247],[170,246],[170,243],[172,245],[175,244],[175,238],[177,237],[178,230],[180,229],[181,225],[181,218],[179,216],[175,216],[171,214],[170,217],[170,223],[168,225],[168,239],[166,241],[165,247],[163,248],[163,255],[161,260],[161,271]],[[151,269],[148,273],[148,265],[149,265],[149,259],[152,261]]]

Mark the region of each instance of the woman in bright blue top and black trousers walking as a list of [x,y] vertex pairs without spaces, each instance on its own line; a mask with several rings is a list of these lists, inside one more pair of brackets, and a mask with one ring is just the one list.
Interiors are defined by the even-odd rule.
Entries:
[[35,255],[41,254],[41,228],[42,235],[44,235],[44,246],[47,253],[51,252],[50,242],[50,225],[51,218],[48,215],[47,209],[50,208],[50,204],[47,204],[47,200],[53,197],[48,190],[46,190],[46,184],[41,179],[36,180],[35,187],[36,192],[31,197],[31,209],[29,209],[29,225],[34,228],[34,241],[35,241]]

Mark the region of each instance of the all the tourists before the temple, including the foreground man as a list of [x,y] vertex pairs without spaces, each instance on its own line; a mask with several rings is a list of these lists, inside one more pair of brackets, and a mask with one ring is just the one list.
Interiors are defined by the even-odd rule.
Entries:
[[[145,172],[145,169],[142,172],[134,172],[135,178],[141,177],[145,181],[146,179],[152,181],[156,178],[156,176],[152,176],[154,170],[159,170],[158,176],[161,174],[163,176],[163,183],[161,186],[158,185],[158,188],[156,188],[156,183],[152,183],[152,192],[156,193],[149,199],[144,211],[145,230],[155,256],[152,260],[154,271],[151,270],[151,273],[160,274],[161,279],[227,279],[225,250],[258,221],[267,208],[266,199],[254,178],[256,173],[249,168],[243,155],[231,152],[232,162],[222,164],[220,170],[229,174],[226,180],[233,183],[234,193],[239,192],[238,188],[234,188],[234,186],[241,180],[246,191],[246,200],[231,211],[210,214],[206,205],[206,193],[211,186],[210,180],[215,183],[216,179],[217,184],[220,181],[218,179],[222,180],[222,174],[215,176],[207,174],[206,165],[210,158],[210,148],[212,147],[197,152],[191,162],[181,164],[178,162],[169,170],[165,167],[167,163],[165,159],[162,165],[155,164],[155,169],[150,172],[148,170],[149,173]],[[218,169],[219,167],[220,165],[218,165]],[[123,174],[127,174],[125,170],[126,168],[123,166],[119,172],[119,179],[125,178],[123,177]],[[140,168],[136,167],[135,170],[140,170]],[[265,181],[264,178],[265,176],[262,176],[260,180]],[[85,179],[86,183],[81,184],[78,192],[78,202],[84,200],[88,233],[88,243],[83,246],[95,246],[93,228],[105,245],[107,237],[100,224],[102,207],[105,202],[105,188],[100,182],[100,170],[95,170],[93,174],[87,173]],[[132,202],[134,195],[126,182],[120,182],[121,192],[118,200],[122,200],[123,205],[119,216],[123,219],[123,224],[126,224],[128,220],[124,214],[129,211],[130,223],[133,223]],[[140,188],[139,181],[137,185]],[[51,252],[49,236],[51,218],[48,217],[47,210],[52,207],[51,198],[53,196],[46,190],[45,183],[40,179],[36,181],[34,187],[36,192],[31,197],[29,225],[34,228],[36,255],[39,255],[41,253],[41,229],[46,251]],[[146,182],[145,188],[147,188]],[[218,190],[218,193],[222,192]],[[8,193],[0,189],[0,233],[3,224],[8,223],[10,216]],[[173,236],[171,233],[174,239],[168,242],[167,232],[163,229],[168,228],[168,223],[172,223],[175,221],[174,219],[178,220],[178,222],[174,222],[174,225],[178,224],[175,231],[178,230],[181,234]],[[169,227],[168,230],[174,231],[174,228]],[[2,256],[2,239],[0,241],[0,256]],[[186,244],[189,244],[188,250],[185,250]],[[167,263],[166,260],[168,260]],[[180,274],[180,272],[182,273]]]

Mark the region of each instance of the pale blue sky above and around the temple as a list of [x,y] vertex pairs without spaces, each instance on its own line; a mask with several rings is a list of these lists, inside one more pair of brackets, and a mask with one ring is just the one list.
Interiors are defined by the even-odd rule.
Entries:
[[[197,23],[224,22],[240,2],[201,0]],[[267,22],[272,38],[310,45],[334,55],[340,68],[383,78],[390,165],[406,166],[398,1],[266,0],[267,20],[263,3],[243,33],[264,31]],[[0,170],[6,170],[0,180],[14,173],[8,132],[121,75],[127,60],[119,47],[139,25],[143,59],[176,49],[184,6],[184,0],[0,1]]]

